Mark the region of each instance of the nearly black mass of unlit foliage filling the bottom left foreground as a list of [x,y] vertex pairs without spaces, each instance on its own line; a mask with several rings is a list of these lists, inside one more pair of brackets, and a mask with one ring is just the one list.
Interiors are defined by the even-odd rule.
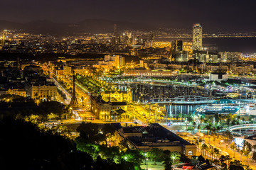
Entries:
[[36,125],[4,118],[0,120],[1,169],[132,169],[79,152],[73,141]]

